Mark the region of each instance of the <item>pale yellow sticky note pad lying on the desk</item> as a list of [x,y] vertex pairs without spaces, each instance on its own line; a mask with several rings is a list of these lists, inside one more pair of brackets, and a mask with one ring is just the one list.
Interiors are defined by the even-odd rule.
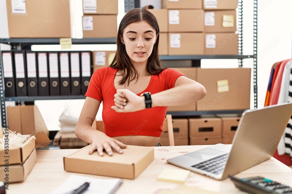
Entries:
[[184,183],[189,173],[190,170],[166,168],[160,173],[160,175],[157,177],[157,180],[174,183]]

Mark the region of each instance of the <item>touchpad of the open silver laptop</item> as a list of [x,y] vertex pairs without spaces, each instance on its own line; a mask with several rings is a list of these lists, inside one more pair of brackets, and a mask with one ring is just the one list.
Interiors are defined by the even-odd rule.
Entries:
[[191,152],[188,154],[185,154],[185,156],[189,156],[192,158],[195,158],[197,160],[204,161],[204,160],[208,160],[211,158],[214,158],[216,156],[220,156],[222,154],[226,154],[227,152],[222,152],[222,151],[218,151],[215,149],[211,149],[211,148],[204,148],[195,152]]

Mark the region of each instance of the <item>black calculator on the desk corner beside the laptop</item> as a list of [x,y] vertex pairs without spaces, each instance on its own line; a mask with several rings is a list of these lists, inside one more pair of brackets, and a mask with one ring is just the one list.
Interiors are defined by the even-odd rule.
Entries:
[[264,177],[248,177],[237,179],[231,175],[229,178],[234,182],[235,186],[242,191],[252,194],[292,194],[292,188],[281,183],[266,179]]

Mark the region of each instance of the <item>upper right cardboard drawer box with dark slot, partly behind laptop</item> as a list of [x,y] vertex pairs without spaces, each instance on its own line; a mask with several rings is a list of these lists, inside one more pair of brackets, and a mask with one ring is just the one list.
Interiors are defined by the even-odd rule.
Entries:
[[239,125],[240,117],[221,118],[222,119],[222,135],[234,136],[237,126]]

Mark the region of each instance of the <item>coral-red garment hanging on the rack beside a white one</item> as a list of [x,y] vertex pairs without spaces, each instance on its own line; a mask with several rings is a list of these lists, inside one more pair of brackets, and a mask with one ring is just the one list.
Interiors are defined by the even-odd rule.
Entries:
[[270,105],[278,104],[278,99],[279,99],[279,94],[280,94],[280,89],[281,89],[281,83],[282,83],[282,77],[283,77],[283,72],[285,69],[286,63],[289,61],[284,60],[282,63],[279,65],[279,71],[277,73],[277,76],[274,81],[274,87],[271,90],[271,98],[270,98]]

